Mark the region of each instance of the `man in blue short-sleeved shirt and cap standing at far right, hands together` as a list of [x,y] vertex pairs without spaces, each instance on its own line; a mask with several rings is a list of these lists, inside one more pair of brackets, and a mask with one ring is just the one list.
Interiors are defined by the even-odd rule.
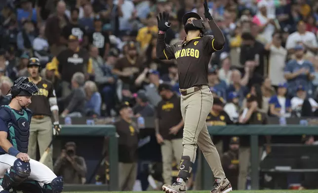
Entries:
[[295,59],[288,61],[285,78],[288,81],[288,94],[295,96],[297,85],[303,85],[308,94],[312,94],[310,81],[315,78],[313,64],[304,59],[305,48],[297,45],[294,49]]

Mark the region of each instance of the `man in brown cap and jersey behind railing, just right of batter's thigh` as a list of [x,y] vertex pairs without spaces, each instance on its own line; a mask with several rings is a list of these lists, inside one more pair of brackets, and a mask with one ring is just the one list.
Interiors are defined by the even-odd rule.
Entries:
[[[213,99],[213,106],[206,118],[206,126],[226,126],[233,125],[233,121],[230,116],[224,111],[225,101],[221,97],[215,97]],[[212,136],[213,143],[218,150],[220,157],[223,154],[224,145],[228,146],[229,137],[213,135]]]

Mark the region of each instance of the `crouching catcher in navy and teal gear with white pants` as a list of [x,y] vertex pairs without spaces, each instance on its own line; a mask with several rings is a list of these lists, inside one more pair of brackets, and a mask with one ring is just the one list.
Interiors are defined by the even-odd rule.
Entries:
[[61,193],[63,178],[30,159],[28,144],[32,112],[27,108],[38,87],[28,77],[11,87],[9,105],[0,106],[0,193]]

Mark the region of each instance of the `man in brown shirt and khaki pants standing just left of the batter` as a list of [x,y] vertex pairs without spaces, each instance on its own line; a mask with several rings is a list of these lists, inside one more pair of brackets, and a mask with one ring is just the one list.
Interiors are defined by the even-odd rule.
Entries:
[[158,92],[162,100],[156,108],[155,129],[161,145],[163,181],[172,182],[172,161],[180,162],[182,156],[183,119],[180,97],[172,92],[169,84],[160,84]]

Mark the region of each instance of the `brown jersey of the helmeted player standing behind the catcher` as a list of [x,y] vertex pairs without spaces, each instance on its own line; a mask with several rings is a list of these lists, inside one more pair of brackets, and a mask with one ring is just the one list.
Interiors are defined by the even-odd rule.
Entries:
[[33,115],[51,116],[52,113],[48,98],[56,97],[53,84],[49,80],[41,78],[37,87],[40,90],[40,94],[32,96],[32,103],[28,108],[32,111]]

